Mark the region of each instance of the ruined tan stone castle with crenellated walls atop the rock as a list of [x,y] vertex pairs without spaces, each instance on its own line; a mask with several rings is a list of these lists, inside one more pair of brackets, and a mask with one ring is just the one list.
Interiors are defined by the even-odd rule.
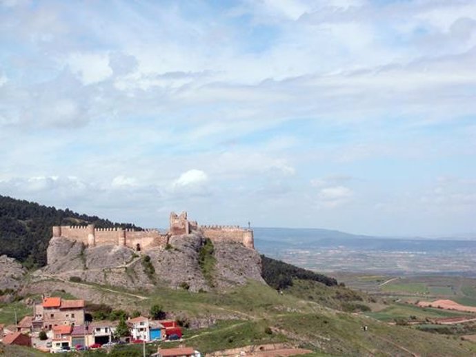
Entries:
[[212,242],[241,243],[245,247],[255,249],[253,231],[239,226],[198,225],[196,221],[188,221],[187,212],[170,213],[170,227],[162,234],[159,230],[123,230],[122,228],[96,228],[95,225],[55,225],[52,227],[53,237],[68,238],[80,241],[88,247],[97,245],[119,245],[132,249],[150,249],[165,247],[171,236],[201,233]]

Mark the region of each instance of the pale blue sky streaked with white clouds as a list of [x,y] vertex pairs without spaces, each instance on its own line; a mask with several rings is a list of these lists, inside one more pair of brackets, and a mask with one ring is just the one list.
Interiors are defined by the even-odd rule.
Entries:
[[143,227],[475,233],[476,1],[0,0],[0,163]]

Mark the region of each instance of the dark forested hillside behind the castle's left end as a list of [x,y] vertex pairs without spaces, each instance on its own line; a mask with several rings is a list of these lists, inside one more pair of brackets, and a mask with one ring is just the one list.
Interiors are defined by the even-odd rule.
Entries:
[[96,227],[140,229],[130,223],[114,223],[97,216],[58,210],[38,203],[0,196],[0,255],[6,254],[27,267],[46,265],[46,248],[53,225],[94,223]]

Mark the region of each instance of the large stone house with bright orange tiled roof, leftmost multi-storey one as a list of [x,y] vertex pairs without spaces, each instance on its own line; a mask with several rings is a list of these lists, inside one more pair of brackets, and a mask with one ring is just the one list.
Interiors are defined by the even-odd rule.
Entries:
[[84,300],[44,298],[34,305],[34,322],[42,321],[43,329],[59,325],[84,324]]

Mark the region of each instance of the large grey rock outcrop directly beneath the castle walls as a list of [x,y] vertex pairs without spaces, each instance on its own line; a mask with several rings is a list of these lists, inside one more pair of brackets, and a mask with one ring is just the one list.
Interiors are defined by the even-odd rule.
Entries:
[[243,285],[248,279],[264,283],[261,258],[254,249],[239,243],[215,243],[215,267],[211,277],[204,276],[199,254],[206,243],[201,234],[170,237],[165,247],[146,253],[119,245],[85,247],[68,238],[54,237],[48,246],[48,265],[37,277],[56,277],[126,287],[153,289],[156,285],[188,288],[192,292]]

